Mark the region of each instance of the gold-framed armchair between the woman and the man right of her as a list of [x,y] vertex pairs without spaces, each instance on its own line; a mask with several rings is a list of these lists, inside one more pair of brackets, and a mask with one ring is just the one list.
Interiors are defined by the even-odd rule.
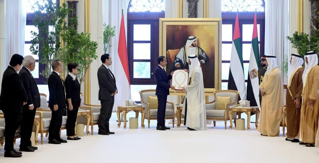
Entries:
[[[90,105],[90,104],[85,104],[84,103],[84,98],[83,98],[83,93],[80,93],[80,97],[81,97],[81,103],[79,106],[79,109],[87,109],[90,110],[90,116],[91,116],[91,121],[90,121],[90,125],[91,125],[91,135],[93,135],[93,126],[97,125],[99,122],[99,116],[100,116],[100,110],[101,110],[101,105]],[[87,120],[83,117],[80,116],[77,119],[77,123],[80,124],[87,124]]]

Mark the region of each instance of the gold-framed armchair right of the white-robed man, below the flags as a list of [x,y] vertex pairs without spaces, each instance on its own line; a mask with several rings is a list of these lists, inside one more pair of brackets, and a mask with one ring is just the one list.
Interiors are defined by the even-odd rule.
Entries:
[[[206,103],[206,120],[213,120],[214,127],[216,120],[223,120],[226,129],[227,120],[229,120],[229,107],[237,105],[239,92],[236,90],[217,90],[214,92],[214,97],[213,101]],[[230,103],[225,103],[224,108],[217,108],[217,97],[230,97]],[[232,118],[236,118],[236,113],[232,114]]]

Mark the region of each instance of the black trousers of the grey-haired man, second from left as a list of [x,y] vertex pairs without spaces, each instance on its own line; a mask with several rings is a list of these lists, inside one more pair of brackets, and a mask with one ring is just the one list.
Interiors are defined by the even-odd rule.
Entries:
[[20,148],[26,148],[27,146],[31,146],[31,134],[33,129],[33,122],[35,116],[36,108],[33,110],[29,109],[28,105],[23,106],[22,111],[22,120],[20,126],[20,134],[21,134],[21,141],[20,141]]

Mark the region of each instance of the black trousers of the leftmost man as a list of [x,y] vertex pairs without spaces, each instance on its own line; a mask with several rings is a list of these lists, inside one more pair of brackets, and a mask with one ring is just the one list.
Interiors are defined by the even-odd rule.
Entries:
[[13,150],[13,139],[17,129],[20,126],[22,114],[21,113],[14,113],[3,111],[4,113],[4,150],[5,151],[12,151]]

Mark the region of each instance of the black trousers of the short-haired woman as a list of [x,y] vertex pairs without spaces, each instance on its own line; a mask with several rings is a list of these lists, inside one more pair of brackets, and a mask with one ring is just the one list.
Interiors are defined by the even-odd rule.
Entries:
[[79,102],[73,102],[72,106],[73,110],[69,110],[69,104],[66,105],[68,107],[68,119],[66,120],[66,135],[67,136],[74,136],[75,135],[75,123],[78,117],[78,110],[79,110]]

